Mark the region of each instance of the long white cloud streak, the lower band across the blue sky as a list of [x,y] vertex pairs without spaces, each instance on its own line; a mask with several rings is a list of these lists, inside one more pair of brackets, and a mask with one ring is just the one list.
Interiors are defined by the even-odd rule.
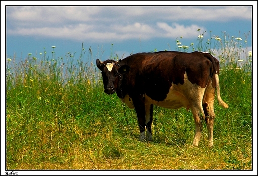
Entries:
[[67,25],[65,27],[17,28],[15,30],[8,30],[7,34],[99,42],[100,40],[109,41],[116,39],[117,41],[121,41],[138,39],[140,35],[142,40],[156,37],[176,38],[181,35],[183,35],[184,38],[196,38],[196,36],[198,36],[198,28],[204,29],[204,27],[197,25],[184,26],[173,23],[172,26],[169,26],[167,23],[157,23],[157,25],[149,26],[136,22],[127,26],[106,26],[103,29],[86,24]]

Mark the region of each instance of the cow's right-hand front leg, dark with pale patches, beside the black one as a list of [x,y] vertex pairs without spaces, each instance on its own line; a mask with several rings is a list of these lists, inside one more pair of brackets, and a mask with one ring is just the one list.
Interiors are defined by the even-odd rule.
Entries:
[[153,121],[153,104],[145,104],[145,111],[146,111],[145,125],[147,129],[146,140],[152,141],[151,126]]

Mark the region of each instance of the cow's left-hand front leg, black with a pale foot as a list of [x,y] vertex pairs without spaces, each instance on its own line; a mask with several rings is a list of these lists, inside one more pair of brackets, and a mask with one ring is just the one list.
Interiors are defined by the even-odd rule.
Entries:
[[134,104],[134,108],[138,117],[138,123],[139,123],[139,127],[140,127],[140,137],[139,137],[139,141],[144,141],[146,140],[145,137],[145,115],[146,115],[146,111],[145,111],[145,102],[144,102],[144,97],[138,96],[136,98],[132,98],[133,104]]

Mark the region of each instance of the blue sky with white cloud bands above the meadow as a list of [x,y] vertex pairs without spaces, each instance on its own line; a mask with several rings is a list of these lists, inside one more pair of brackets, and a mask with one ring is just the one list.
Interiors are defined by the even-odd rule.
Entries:
[[[193,2],[187,2],[189,5],[191,3]],[[176,5],[174,2],[165,4]],[[227,4],[226,1],[221,4],[216,2],[216,5],[223,4]],[[88,4],[85,2],[84,5]],[[89,3],[89,5],[94,4]],[[92,49],[93,62],[97,58],[106,60],[111,53],[113,56],[117,54],[119,58],[122,56],[125,58],[131,53],[150,52],[154,49],[173,51],[177,47],[176,39],[180,40],[181,45],[190,46],[190,43],[194,43],[196,47],[198,35],[204,33],[204,41],[207,41],[210,34],[221,38],[224,36],[223,32],[230,37],[243,38],[243,44],[246,40],[243,35],[249,33],[246,44],[248,50],[252,50],[252,7],[180,5],[6,7],[6,57],[21,60],[26,58],[28,53],[40,57],[39,53],[43,53],[44,50],[47,56],[51,57],[52,46],[56,46],[54,49],[56,58],[65,58],[68,52],[75,53],[75,57],[79,57],[82,42],[86,51]]]

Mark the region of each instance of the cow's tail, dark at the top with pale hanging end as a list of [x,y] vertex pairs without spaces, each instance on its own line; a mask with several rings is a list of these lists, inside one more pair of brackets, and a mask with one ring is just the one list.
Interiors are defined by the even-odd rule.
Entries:
[[228,104],[225,103],[225,102],[222,100],[221,96],[220,96],[219,74],[218,74],[218,72],[217,72],[216,62],[215,62],[215,60],[214,60],[214,58],[213,58],[213,56],[212,56],[211,54],[206,53],[206,52],[203,52],[203,53],[201,53],[201,54],[205,54],[205,57],[206,57],[207,59],[209,59],[209,60],[212,62],[213,69],[214,69],[214,74],[215,74],[215,82],[216,82],[216,88],[217,88],[217,99],[218,99],[219,105],[220,105],[221,107],[223,107],[223,108],[228,108],[228,107],[229,107]]

